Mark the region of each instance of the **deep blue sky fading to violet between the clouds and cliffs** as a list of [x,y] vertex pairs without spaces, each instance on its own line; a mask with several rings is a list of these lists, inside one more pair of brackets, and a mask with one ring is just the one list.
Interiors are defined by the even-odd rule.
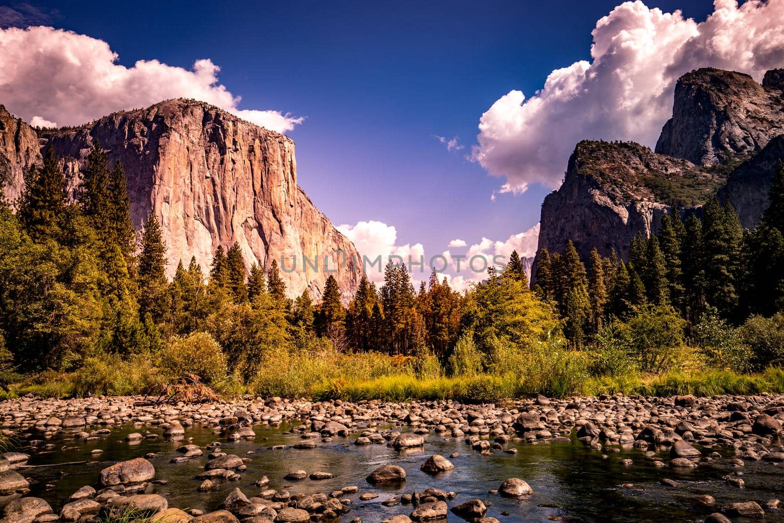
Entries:
[[[466,160],[479,118],[510,90],[531,96],[554,69],[590,60],[591,31],[618,3],[33,5],[54,27],[108,42],[120,64],[190,69],[209,58],[241,109],[307,117],[289,136],[299,183],[318,208],[336,225],[394,225],[398,244],[422,242],[430,253],[454,238],[505,239],[539,220],[549,188],[491,201],[504,180]],[[646,5],[698,21],[713,11],[711,2]],[[435,136],[464,148],[447,151]]]

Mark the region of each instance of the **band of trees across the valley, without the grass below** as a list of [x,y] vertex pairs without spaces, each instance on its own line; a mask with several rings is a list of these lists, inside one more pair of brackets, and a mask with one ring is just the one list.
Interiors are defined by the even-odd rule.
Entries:
[[[405,265],[390,262],[378,286],[363,275],[347,304],[332,276],[320,300],[307,291],[290,299],[278,263],[247,270],[237,243],[219,246],[210,267],[180,260],[169,280],[158,220],[151,214],[137,234],[122,165],[110,165],[97,140],[81,179],[69,187],[48,147],[25,175],[16,212],[0,202],[3,383],[20,373],[73,372],[103,355],[163,361],[167,350],[165,365],[183,372],[195,365],[193,354],[207,361],[219,351],[223,375],[249,383],[270,354],[325,344],[437,360],[447,372],[504,372],[531,347],[564,338],[597,354],[622,340],[625,355],[615,361],[640,354],[639,368],[650,370],[662,354],[651,347],[676,346],[684,334],[724,336],[725,327],[784,304],[781,164],[753,231],[713,199],[701,218],[663,216],[657,234],[633,238],[627,261],[594,249],[585,263],[572,242],[563,253],[543,250],[533,289],[513,252],[503,271],[490,267],[465,293],[435,273],[415,289]],[[187,341],[194,335],[201,351]]]

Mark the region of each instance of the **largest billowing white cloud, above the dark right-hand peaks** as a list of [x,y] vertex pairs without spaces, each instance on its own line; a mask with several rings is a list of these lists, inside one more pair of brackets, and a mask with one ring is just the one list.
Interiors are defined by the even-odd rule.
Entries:
[[499,192],[520,193],[528,183],[555,188],[579,140],[654,145],[681,74],[710,66],[759,81],[784,66],[784,0],[713,6],[701,23],[639,1],[615,7],[597,21],[590,61],[552,71],[528,99],[510,91],[482,114],[472,158],[506,177]]

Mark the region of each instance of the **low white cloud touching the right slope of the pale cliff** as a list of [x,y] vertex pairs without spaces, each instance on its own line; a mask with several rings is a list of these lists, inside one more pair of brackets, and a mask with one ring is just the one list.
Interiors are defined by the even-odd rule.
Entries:
[[[384,279],[384,266],[390,260],[390,256],[399,256],[408,266],[409,256],[410,260],[419,263],[424,260],[423,266],[415,265],[412,269],[412,281],[418,285],[419,280],[426,279],[425,275],[430,274],[429,260],[424,258],[425,249],[421,243],[411,245],[397,245],[397,229],[394,225],[387,225],[387,223],[379,222],[376,220],[361,221],[355,225],[343,224],[337,227],[338,231],[346,235],[354,246],[359,251],[360,255],[368,261],[365,262],[365,271],[368,274],[368,280],[380,283]],[[381,256],[381,267],[376,263],[371,266],[371,263]],[[393,263],[399,263],[400,259],[394,258]],[[411,270],[411,267],[409,267]]]

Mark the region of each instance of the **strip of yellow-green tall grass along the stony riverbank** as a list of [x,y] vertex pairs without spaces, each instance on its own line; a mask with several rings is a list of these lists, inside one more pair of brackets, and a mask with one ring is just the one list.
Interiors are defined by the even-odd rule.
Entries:
[[[473,361],[474,355],[471,358]],[[592,353],[565,350],[557,341],[543,342],[526,351],[499,346],[484,358],[481,369],[474,364],[466,366],[464,362],[451,361],[452,372],[447,376],[438,359],[426,351],[416,357],[404,357],[374,352],[344,354],[328,346],[317,346],[267,354],[250,383],[241,383],[230,375],[214,386],[229,396],[247,391],[265,398],[350,401],[485,402],[535,394],[565,398],[615,393],[650,396],[784,393],[784,369],[780,368],[739,374],[681,365],[678,370],[660,374],[629,370],[615,376],[596,376],[591,366],[595,359]],[[460,373],[454,369],[468,370]],[[33,392],[56,398],[140,394],[156,383],[167,383],[168,376],[145,358],[87,358],[78,372],[43,372],[10,394]]]

